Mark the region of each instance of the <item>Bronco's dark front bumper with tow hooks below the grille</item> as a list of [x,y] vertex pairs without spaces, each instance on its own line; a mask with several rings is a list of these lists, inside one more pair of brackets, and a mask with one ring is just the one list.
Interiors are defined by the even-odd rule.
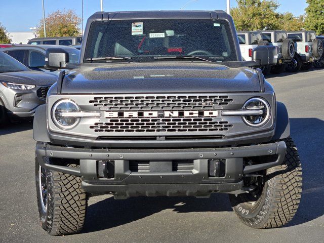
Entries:
[[[282,164],[286,154],[285,142],[233,148],[193,149],[82,149],[37,143],[36,159],[39,165],[54,171],[82,176],[83,188],[93,194],[114,194],[116,198],[146,195],[207,196],[212,192],[244,193],[242,177]],[[275,161],[244,166],[244,158],[274,156]],[[79,169],[59,166],[55,159],[77,159]],[[154,163],[188,159],[193,168],[187,171],[131,171],[130,161],[148,160]],[[223,159],[225,174],[211,177],[209,161]],[[113,177],[100,178],[99,161],[114,163]]]

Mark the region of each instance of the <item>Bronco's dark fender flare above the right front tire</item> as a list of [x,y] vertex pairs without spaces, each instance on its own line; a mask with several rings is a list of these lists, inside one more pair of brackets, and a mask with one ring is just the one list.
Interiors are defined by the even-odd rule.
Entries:
[[284,139],[290,136],[289,115],[286,105],[281,102],[276,102],[276,104],[276,125],[275,134],[272,137],[272,140]]

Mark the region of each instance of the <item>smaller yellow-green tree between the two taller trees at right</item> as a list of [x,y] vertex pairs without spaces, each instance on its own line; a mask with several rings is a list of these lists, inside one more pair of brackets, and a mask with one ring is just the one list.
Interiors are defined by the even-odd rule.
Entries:
[[294,16],[290,12],[279,15],[279,29],[298,31],[304,28],[304,16]]

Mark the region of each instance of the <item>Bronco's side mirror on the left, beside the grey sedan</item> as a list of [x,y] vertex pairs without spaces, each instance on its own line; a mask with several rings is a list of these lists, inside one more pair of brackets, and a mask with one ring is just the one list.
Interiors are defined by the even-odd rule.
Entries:
[[69,54],[62,48],[49,48],[45,53],[45,68],[61,69],[65,68],[69,62]]

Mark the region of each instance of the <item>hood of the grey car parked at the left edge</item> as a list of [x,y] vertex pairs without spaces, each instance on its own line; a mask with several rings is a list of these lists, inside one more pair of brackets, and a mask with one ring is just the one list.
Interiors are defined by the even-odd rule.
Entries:
[[22,85],[53,85],[57,76],[39,71],[4,72],[0,73],[0,80]]

